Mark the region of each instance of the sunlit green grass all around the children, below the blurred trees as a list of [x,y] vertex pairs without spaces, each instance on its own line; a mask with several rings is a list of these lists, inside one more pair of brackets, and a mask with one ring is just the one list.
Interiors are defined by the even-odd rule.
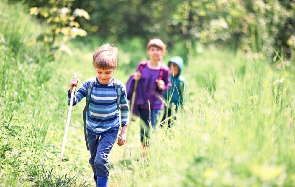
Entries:
[[[94,186],[83,136],[84,100],[73,107],[64,160],[57,164],[68,80],[74,72],[79,85],[95,76],[92,54],[103,41],[73,40],[68,45],[74,55],[53,61],[32,42],[46,26],[28,16],[23,4],[1,1],[0,7],[1,185]],[[139,38],[116,44],[114,77],[126,82],[147,58],[145,44]],[[164,61],[177,54],[168,52]],[[188,98],[176,123],[170,130],[157,128],[142,161],[140,121],[132,122],[127,146],[111,151],[109,185],[294,186],[294,70],[294,61],[276,69],[225,49],[191,56],[183,70]]]

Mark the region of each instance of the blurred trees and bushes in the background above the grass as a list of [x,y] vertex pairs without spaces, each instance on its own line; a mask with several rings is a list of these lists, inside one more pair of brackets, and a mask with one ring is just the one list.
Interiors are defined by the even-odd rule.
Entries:
[[[295,2],[293,0],[27,0],[25,2],[30,7],[35,7],[31,9],[31,14],[53,25],[49,31],[52,33],[51,40],[59,33],[67,37],[85,36],[88,33],[116,42],[136,36],[141,38],[143,43],[147,43],[149,39],[158,37],[167,43],[170,49],[183,48],[184,50],[179,50],[178,55],[185,61],[189,53],[201,52],[203,48],[200,46],[211,44],[227,46],[254,57],[272,57],[271,61],[273,59],[276,61],[278,55],[285,58],[294,57]],[[39,9],[38,14],[36,7],[43,10]],[[68,18],[62,15],[72,12],[73,16]],[[61,21],[66,19],[68,22]],[[67,26],[68,29],[61,31],[61,26]],[[69,28],[73,27],[81,29],[72,29],[71,35]],[[47,33],[48,37],[50,38]]]

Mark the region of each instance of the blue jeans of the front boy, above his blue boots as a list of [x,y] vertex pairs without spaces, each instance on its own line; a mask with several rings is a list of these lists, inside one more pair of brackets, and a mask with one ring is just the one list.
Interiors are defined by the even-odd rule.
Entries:
[[109,177],[109,153],[116,141],[118,131],[112,130],[106,132],[101,136],[94,136],[87,134],[87,140],[89,143],[89,150],[91,157],[89,163],[94,173],[94,179],[97,177]]

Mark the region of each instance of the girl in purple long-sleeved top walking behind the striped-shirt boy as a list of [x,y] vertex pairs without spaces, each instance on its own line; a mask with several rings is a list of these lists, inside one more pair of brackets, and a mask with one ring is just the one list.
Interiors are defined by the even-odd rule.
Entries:
[[165,44],[160,39],[152,39],[148,43],[148,61],[142,61],[137,66],[133,79],[138,81],[137,95],[142,103],[137,105],[140,118],[145,126],[140,127],[142,147],[147,147],[150,125],[155,129],[164,108],[163,93],[170,87],[170,72],[162,62]]

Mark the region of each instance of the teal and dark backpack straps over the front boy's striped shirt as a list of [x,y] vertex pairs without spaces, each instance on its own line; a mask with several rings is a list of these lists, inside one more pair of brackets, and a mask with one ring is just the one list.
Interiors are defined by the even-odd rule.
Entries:
[[[86,103],[85,103],[85,107],[83,110],[84,136],[85,136],[87,150],[89,150],[89,145],[88,145],[88,141],[87,141],[86,116],[87,116],[87,111],[89,109],[92,88],[93,88],[95,81],[96,81],[96,78],[91,79],[90,82],[88,83],[87,90],[86,90]],[[115,79],[114,79],[114,83],[115,83],[116,95],[117,95],[117,110],[119,111],[120,110],[120,99],[121,99],[121,94],[122,94],[122,85],[121,85],[121,82],[116,81]]]

